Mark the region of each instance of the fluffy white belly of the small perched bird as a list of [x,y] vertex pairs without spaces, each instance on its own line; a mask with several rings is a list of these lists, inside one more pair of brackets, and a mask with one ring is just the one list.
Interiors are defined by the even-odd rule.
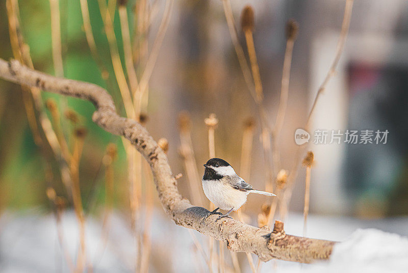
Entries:
[[221,210],[238,210],[245,202],[248,192],[234,189],[218,180],[203,180],[202,189],[207,198]]

